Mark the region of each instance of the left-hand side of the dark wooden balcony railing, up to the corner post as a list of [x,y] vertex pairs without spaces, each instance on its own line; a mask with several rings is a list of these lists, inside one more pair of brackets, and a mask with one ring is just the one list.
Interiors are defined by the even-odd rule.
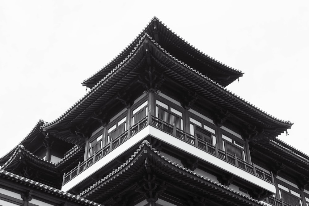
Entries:
[[99,159],[103,158],[105,155],[110,153],[112,150],[117,148],[119,145],[127,141],[130,137],[138,133],[142,128],[146,127],[147,125],[148,125],[148,117],[146,116],[142,120],[138,121],[135,125],[130,127],[129,131],[126,130],[121,135],[113,139],[110,143],[105,145],[102,149],[100,149],[99,151],[95,151],[93,155],[91,155],[87,160],[85,160],[84,162],[79,162],[78,166],[76,166],[69,173],[65,173],[63,175],[62,185],[69,182],[71,179],[73,179],[78,174],[86,170],[88,167],[93,165]]

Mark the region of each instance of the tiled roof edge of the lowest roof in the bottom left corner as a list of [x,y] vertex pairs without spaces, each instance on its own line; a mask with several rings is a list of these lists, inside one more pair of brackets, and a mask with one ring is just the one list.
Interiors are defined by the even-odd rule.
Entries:
[[56,189],[54,187],[50,187],[48,185],[45,185],[45,184],[33,181],[31,179],[19,176],[17,174],[13,174],[11,172],[7,172],[5,170],[1,170],[0,169],[0,175],[9,177],[11,179],[18,180],[21,183],[25,183],[25,184],[27,183],[27,184],[32,185],[34,187],[40,188],[40,190],[45,191],[45,192],[53,193],[55,195],[60,195],[61,197],[67,198],[68,200],[71,200],[71,201],[79,201],[79,202],[85,203],[87,205],[101,206],[101,204],[95,203],[95,202],[87,200],[85,198],[81,198],[81,197],[79,197],[77,195],[72,195],[72,194],[70,194],[68,192],[58,190],[58,189]]

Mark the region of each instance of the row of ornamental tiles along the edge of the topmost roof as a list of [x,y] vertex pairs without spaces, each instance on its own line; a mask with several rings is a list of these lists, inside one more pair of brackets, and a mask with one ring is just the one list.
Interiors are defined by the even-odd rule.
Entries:
[[[144,29],[140,32],[139,36],[140,36],[143,32],[145,32],[146,28],[150,26],[150,23],[151,23],[154,19],[156,19],[156,20],[158,20],[160,23],[162,23],[162,21],[160,21],[159,18],[157,18],[156,16],[154,16],[154,17],[148,22],[148,24],[146,25],[146,27],[144,27]],[[205,52],[201,52],[199,49],[195,48],[195,46],[193,46],[192,44],[188,43],[188,41],[184,40],[182,37],[180,37],[179,35],[177,35],[177,33],[175,34],[175,32],[173,32],[169,27],[167,27],[167,25],[165,25],[164,23],[162,23],[162,24],[163,24],[163,26],[166,27],[170,32],[172,32],[172,33],[173,33],[174,35],[176,35],[178,38],[180,38],[181,40],[183,40],[186,44],[188,44],[189,46],[193,47],[193,49],[195,49],[197,52],[201,53],[202,55],[206,56],[207,58],[209,58],[209,59],[211,59],[211,60],[216,61],[217,63],[219,63],[219,64],[221,64],[221,65],[223,65],[223,66],[226,66],[227,68],[229,68],[229,69],[231,69],[231,70],[234,70],[234,71],[236,71],[236,72],[239,72],[239,73],[242,73],[242,74],[243,74],[243,72],[242,72],[241,70],[235,69],[235,68],[232,68],[232,67],[230,67],[230,66],[228,66],[228,65],[226,65],[226,64],[223,64],[222,62],[216,60],[215,58],[212,58],[212,57],[210,57],[209,55],[205,54]],[[136,37],[131,41],[131,44],[133,44],[133,42],[134,42],[136,39],[138,39],[139,36],[136,36]],[[130,47],[130,44],[128,44],[127,47],[125,47],[125,48],[122,50],[122,52],[120,52],[117,56],[115,56],[111,61],[109,61],[108,64],[104,65],[104,67],[102,67],[101,69],[99,69],[98,71],[96,71],[94,74],[92,74],[92,75],[91,75],[90,77],[88,77],[87,79],[84,79],[83,82],[82,82],[81,84],[87,82],[89,79],[91,79],[91,78],[94,77],[96,74],[98,74],[100,71],[102,71],[104,68],[106,68],[108,65],[110,65],[114,60],[116,60],[117,58],[119,58],[119,57],[121,56],[121,54],[122,54],[127,48],[129,48],[129,47]]]

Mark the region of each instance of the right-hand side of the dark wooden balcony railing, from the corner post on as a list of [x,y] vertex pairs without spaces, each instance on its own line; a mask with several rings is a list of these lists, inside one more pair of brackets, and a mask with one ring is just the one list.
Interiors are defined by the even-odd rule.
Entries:
[[155,116],[151,116],[150,125],[273,184],[273,175],[271,173],[256,168],[254,164],[245,162],[242,159],[237,158],[236,155],[226,153],[222,149],[219,149],[217,145],[211,145],[202,141],[199,138],[176,128],[175,125],[164,122]]

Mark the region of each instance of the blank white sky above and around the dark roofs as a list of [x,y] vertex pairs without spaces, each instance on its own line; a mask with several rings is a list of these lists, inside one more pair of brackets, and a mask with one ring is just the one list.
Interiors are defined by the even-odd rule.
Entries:
[[0,157],[40,118],[53,121],[78,101],[86,89],[80,83],[154,15],[193,46],[242,70],[227,88],[294,122],[280,138],[309,153],[309,1],[187,2],[1,1]]

